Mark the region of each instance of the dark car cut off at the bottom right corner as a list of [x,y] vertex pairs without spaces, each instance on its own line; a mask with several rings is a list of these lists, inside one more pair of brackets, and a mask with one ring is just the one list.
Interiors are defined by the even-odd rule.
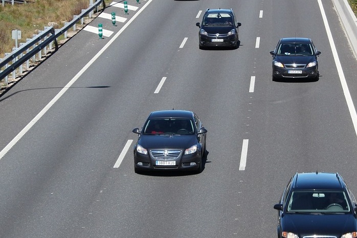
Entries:
[[339,174],[296,174],[274,208],[278,238],[357,237],[356,201]]

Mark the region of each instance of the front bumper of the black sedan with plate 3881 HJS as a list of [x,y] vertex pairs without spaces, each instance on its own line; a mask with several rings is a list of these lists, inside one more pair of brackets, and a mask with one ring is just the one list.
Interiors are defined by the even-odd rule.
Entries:
[[136,170],[197,170],[202,163],[200,155],[198,150],[193,154],[183,155],[182,150],[177,157],[165,159],[154,157],[151,151],[144,155],[134,150],[134,166]]

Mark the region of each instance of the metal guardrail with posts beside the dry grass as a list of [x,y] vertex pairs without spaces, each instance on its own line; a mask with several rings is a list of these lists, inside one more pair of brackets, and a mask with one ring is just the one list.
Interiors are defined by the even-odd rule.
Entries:
[[5,68],[3,71],[0,71],[0,80],[5,78],[5,84],[7,84],[8,75],[11,73],[14,79],[16,75],[15,71],[18,68],[22,69],[25,62],[28,63],[28,60],[35,57],[37,53],[42,51],[42,49],[47,49],[49,45],[50,49],[52,49],[52,42],[55,43],[55,51],[57,51],[57,38],[63,33],[65,34],[71,27],[75,26],[84,16],[90,15],[91,17],[92,11],[102,3],[103,8],[105,8],[104,0],[97,0],[94,4],[90,4],[87,9],[82,10],[81,14],[74,16],[73,20],[69,23],[65,23],[61,29],[45,27],[44,31],[41,31],[38,35],[34,35],[32,39],[27,39],[25,44],[20,44],[20,47],[15,48],[12,53],[6,54],[5,58],[0,60],[0,70]]

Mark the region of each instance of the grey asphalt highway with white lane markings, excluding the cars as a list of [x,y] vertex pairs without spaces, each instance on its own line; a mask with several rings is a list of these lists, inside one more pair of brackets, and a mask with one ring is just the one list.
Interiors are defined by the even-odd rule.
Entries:
[[[128,4],[105,9],[124,23],[90,24],[113,34],[80,31],[0,97],[0,237],[276,237],[296,172],[339,172],[357,194],[357,61],[332,0]],[[240,47],[199,50],[195,23],[218,7]],[[294,36],[322,52],[319,81],[272,81],[269,52]],[[203,172],[135,174],[132,128],[172,108],[208,129]]]

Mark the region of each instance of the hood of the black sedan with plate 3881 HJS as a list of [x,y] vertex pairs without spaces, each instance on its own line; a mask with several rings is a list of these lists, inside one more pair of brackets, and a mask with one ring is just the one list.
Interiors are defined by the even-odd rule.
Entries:
[[196,135],[142,135],[138,144],[146,149],[187,149],[197,144]]

